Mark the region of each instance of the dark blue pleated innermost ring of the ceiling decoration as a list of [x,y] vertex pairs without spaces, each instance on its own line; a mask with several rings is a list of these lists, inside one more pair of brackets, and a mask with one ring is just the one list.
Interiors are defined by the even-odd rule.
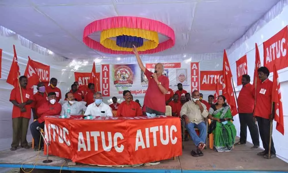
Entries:
[[133,44],[136,47],[140,47],[143,46],[143,38],[129,35],[119,35],[116,37],[116,44],[124,48],[133,48]]

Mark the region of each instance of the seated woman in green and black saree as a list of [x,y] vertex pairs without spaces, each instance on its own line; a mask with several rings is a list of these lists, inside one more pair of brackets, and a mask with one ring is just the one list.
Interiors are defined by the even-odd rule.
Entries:
[[213,149],[217,152],[231,151],[234,146],[236,129],[230,107],[225,103],[226,98],[219,95],[217,103],[209,109],[208,118],[216,121],[216,128],[213,130]]

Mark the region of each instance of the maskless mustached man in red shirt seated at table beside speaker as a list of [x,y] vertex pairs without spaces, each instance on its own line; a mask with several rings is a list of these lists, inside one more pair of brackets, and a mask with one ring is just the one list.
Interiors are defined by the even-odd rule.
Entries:
[[131,93],[128,90],[123,91],[123,101],[117,110],[117,116],[123,117],[134,117],[134,116],[141,116],[142,110],[138,103],[132,101]]

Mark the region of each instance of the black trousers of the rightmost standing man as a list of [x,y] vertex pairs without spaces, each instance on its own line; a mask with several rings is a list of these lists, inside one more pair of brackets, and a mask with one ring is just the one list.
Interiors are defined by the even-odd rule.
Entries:
[[[270,140],[270,120],[259,116],[256,116],[257,124],[259,127],[259,133],[266,154],[269,152],[269,140]],[[272,135],[272,134],[271,134]],[[271,154],[276,154],[273,139],[271,137]]]

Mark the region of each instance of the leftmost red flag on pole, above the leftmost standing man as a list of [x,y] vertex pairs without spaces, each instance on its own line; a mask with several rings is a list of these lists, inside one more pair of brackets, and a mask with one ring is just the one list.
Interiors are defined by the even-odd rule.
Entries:
[[13,45],[13,49],[14,49],[14,57],[13,57],[13,61],[12,61],[6,82],[8,84],[13,85],[14,88],[16,88],[19,85],[18,84],[18,77],[20,76],[20,68],[18,65],[18,59],[17,59],[16,50],[15,50],[15,45]]

